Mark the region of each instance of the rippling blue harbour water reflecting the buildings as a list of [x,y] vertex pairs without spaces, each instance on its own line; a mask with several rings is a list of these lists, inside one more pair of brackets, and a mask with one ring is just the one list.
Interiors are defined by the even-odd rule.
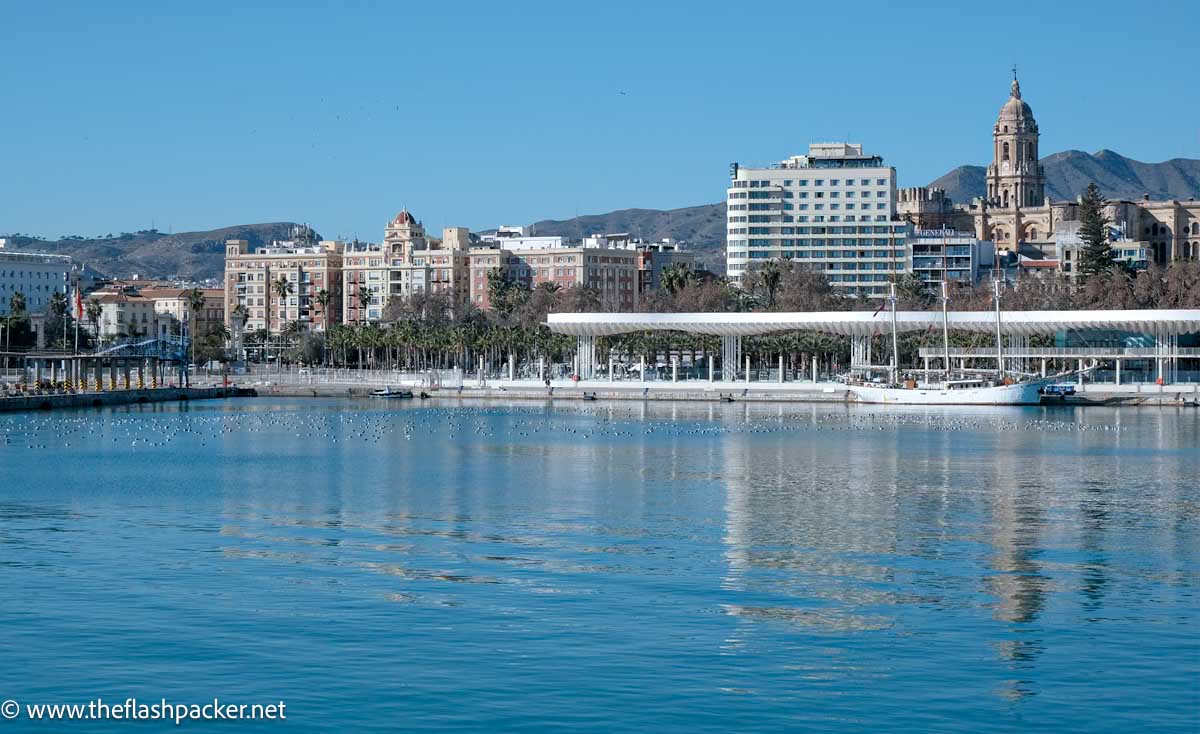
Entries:
[[282,699],[295,732],[1194,733],[1198,447],[1186,409],[0,416],[0,699]]

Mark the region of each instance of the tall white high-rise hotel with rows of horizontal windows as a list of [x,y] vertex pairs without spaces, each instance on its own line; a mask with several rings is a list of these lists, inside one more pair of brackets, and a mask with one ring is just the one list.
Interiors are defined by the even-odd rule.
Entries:
[[896,173],[862,145],[821,143],[770,168],[731,167],[726,270],[740,284],[756,264],[791,260],[847,295],[883,296],[911,270]]

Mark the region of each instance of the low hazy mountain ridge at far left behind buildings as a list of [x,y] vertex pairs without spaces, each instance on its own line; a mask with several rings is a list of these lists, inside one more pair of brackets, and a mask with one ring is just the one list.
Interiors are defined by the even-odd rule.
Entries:
[[226,240],[248,240],[252,248],[286,240],[293,222],[238,224],[206,231],[164,234],[156,229],[103,237],[70,236],[61,240],[12,235],[6,249],[68,254],[77,261],[112,277],[221,279]]

